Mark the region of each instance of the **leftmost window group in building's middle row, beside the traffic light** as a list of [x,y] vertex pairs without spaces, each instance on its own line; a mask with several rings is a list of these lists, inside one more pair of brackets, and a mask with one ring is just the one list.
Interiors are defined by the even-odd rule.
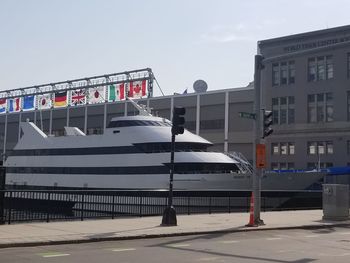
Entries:
[[294,97],[272,98],[273,124],[294,123]]

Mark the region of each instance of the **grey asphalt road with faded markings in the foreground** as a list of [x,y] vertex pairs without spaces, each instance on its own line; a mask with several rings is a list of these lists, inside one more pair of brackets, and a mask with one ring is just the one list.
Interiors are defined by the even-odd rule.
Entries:
[[0,262],[350,262],[350,227],[4,248]]

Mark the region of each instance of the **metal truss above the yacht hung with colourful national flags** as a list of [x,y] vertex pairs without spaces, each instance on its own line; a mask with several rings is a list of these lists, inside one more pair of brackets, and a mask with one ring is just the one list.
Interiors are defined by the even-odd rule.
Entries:
[[145,68],[0,91],[0,114],[152,97],[153,80]]

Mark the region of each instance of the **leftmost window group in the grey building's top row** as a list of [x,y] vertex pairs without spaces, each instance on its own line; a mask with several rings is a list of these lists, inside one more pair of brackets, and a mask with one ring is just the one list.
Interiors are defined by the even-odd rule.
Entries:
[[295,63],[283,61],[272,64],[272,85],[280,86],[295,83]]

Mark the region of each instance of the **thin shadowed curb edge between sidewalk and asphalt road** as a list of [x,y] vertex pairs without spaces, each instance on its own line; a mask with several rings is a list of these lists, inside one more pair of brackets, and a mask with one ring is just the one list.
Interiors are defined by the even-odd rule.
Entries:
[[348,223],[329,223],[322,225],[303,225],[303,226],[281,226],[281,227],[264,227],[264,228],[251,228],[244,227],[240,229],[224,229],[224,230],[212,230],[212,231],[193,231],[193,232],[182,232],[182,233],[165,233],[165,234],[144,234],[135,236],[119,236],[119,237],[97,237],[88,239],[75,239],[75,240],[51,240],[51,241],[37,241],[37,242],[18,242],[0,244],[1,248],[11,247],[34,247],[34,246],[52,246],[52,245],[65,245],[65,244],[82,244],[82,243],[93,243],[93,242],[104,242],[104,241],[117,241],[117,240],[136,240],[136,239],[149,239],[149,238],[162,238],[162,237],[179,237],[179,236],[190,236],[190,235],[208,235],[208,234],[223,234],[223,233],[237,233],[237,232],[250,232],[250,231],[267,231],[267,230],[290,230],[290,229],[323,229],[331,227],[349,227]]

